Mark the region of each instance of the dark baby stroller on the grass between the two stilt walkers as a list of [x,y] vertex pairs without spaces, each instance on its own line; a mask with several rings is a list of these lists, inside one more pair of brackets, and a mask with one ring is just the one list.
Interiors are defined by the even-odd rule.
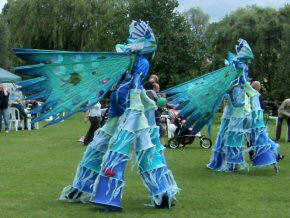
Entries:
[[[172,116],[172,112],[169,113],[170,117]],[[174,114],[174,113],[173,113]],[[173,119],[172,123],[168,126],[169,131],[174,132],[174,136],[169,139],[168,147],[169,148],[183,148],[187,144],[192,144],[195,138],[199,138],[199,145],[202,148],[209,149],[212,146],[212,141],[210,138],[205,137],[204,135],[197,133],[195,135],[191,134],[191,129],[186,131],[182,131],[183,121],[176,116]]]

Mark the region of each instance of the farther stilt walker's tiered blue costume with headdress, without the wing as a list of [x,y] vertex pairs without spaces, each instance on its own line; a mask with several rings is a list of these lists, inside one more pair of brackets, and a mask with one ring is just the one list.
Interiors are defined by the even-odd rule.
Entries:
[[[228,104],[224,110],[222,124],[208,168],[218,171],[236,171],[238,167],[248,169],[245,154],[253,151],[253,166],[274,164],[277,169],[278,147],[268,136],[260,107],[259,93],[255,92],[247,78],[248,62],[252,51],[245,40],[240,40],[237,56],[229,59],[240,77],[229,91]],[[245,138],[250,148],[244,147]]]

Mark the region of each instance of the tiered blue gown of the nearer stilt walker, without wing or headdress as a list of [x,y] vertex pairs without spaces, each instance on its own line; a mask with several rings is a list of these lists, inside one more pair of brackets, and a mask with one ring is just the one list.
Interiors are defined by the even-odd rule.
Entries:
[[[148,24],[137,21],[132,25]],[[149,73],[149,61],[145,57],[148,54],[139,53],[132,72],[126,73],[112,90],[109,119],[95,133],[72,185],[64,188],[61,200],[91,201],[106,208],[122,208],[124,171],[134,144],[140,175],[151,193],[152,203],[159,207],[166,201],[166,206],[171,207],[178,188],[166,166],[155,123],[156,105],[142,86]]]

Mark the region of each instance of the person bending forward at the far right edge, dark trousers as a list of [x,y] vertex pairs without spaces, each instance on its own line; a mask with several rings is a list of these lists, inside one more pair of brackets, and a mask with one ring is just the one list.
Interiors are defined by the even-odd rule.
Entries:
[[288,142],[290,142],[290,98],[285,99],[278,109],[278,123],[276,128],[276,141],[280,140],[281,130],[282,130],[282,122],[286,119],[288,126],[287,138]]

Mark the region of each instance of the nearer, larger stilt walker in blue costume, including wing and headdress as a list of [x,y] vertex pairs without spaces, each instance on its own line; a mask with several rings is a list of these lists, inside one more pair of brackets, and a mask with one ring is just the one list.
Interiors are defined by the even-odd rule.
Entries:
[[[37,63],[15,69],[35,77],[18,84],[28,99],[46,99],[31,111],[41,114],[34,122],[54,116],[48,125],[58,123],[88,110],[88,101],[94,105],[112,91],[109,119],[95,132],[72,184],[63,189],[60,200],[122,208],[124,170],[134,145],[152,205],[172,206],[179,189],[165,162],[155,123],[156,104],[142,86],[156,49],[154,33],[142,20],[132,22],[128,44],[116,45],[117,53],[14,49],[17,56]],[[56,116],[63,112],[65,116]]]

